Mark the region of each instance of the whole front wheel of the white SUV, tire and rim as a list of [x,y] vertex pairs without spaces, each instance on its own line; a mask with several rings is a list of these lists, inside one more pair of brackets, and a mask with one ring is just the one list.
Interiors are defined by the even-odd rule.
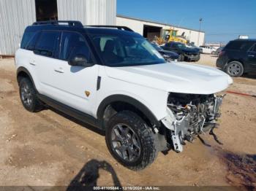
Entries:
[[142,170],[157,157],[157,140],[134,112],[118,112],[109,120],[106,143],[110,153],[119,163],[134,171]]

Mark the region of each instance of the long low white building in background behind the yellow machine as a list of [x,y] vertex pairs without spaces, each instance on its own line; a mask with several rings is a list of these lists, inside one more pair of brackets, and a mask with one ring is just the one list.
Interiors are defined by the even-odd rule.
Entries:
[[133,31],[138,32],[138,34],[141,34],[148,39],[153,39],[154,36],[162,36],[164,30],[174,29],[178,30],[177,35],[181,36],[182,34],[184,34],[189,42],[194,42],[197,46],[203,45],[205,41],[205,32],[203,31],[173,26],[165,23],[157,23],[151,20],[141,20],[138,18],[127,17],[124,15],[117,15],[116,25],[128,26],[129,28],[132,28]]

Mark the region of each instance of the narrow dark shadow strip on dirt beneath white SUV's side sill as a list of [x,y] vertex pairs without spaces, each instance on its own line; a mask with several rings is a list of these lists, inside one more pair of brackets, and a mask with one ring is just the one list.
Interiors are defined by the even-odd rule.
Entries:
[[78,125],[81,125],[83,128],[87,128],[91,131],[94,131],[95,133],[98,133],[101,136],[105,136],[105,131],[104,130],[100,130],[99,128],[95,128],[94,126],[92,126],[92,125],[90,125],[86,122],[82,122],[80,120],[77,120],[77,119],[75,119],[75,117],[71,117],[68,114],[65,114],[65,113],[59,111],[58,109],[54,109],[50,106],[48,106],[46,109],[50,109],[50,111],[55,112],[56,114],[59,114],[62,117],[65,117],[67,120],[71,120],[72,122],[77,123]]

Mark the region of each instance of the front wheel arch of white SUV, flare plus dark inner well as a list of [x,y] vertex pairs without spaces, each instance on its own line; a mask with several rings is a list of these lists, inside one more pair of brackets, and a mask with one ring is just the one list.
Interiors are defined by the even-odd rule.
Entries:
[[129,110],[135,112],[145,120],[148,125],[160,126],[157,117],[140,101],[128,95],[110,95],[105,98],[97,109],[97,118],[102,121],[102,128],[105,128],[105,122],[116,114],[116,112]]

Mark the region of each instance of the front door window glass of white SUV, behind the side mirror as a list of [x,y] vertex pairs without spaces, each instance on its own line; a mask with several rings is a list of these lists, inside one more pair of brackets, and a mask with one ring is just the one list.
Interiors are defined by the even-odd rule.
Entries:
[[91,62],[91,53],[86,40],[78,33],[63,32],[61,37],[61,51],[59,58],[67,61],[70,55],[83,55]]

